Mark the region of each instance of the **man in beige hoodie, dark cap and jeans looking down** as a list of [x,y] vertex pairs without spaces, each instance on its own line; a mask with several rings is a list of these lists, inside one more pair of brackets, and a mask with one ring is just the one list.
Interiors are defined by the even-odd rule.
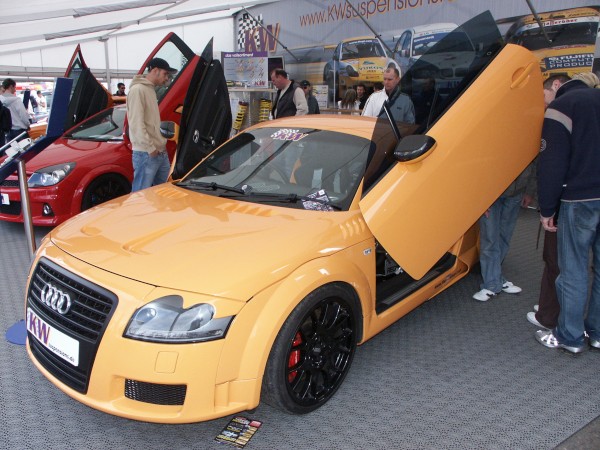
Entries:
[[154,88],[165,85],[175,72],[164,59],[153,58],[146,75],[136,75],[129,86],[127,122],[133,148],[132,192],[164,183],[169,176],[167,140],[160,134],[160,111]]

